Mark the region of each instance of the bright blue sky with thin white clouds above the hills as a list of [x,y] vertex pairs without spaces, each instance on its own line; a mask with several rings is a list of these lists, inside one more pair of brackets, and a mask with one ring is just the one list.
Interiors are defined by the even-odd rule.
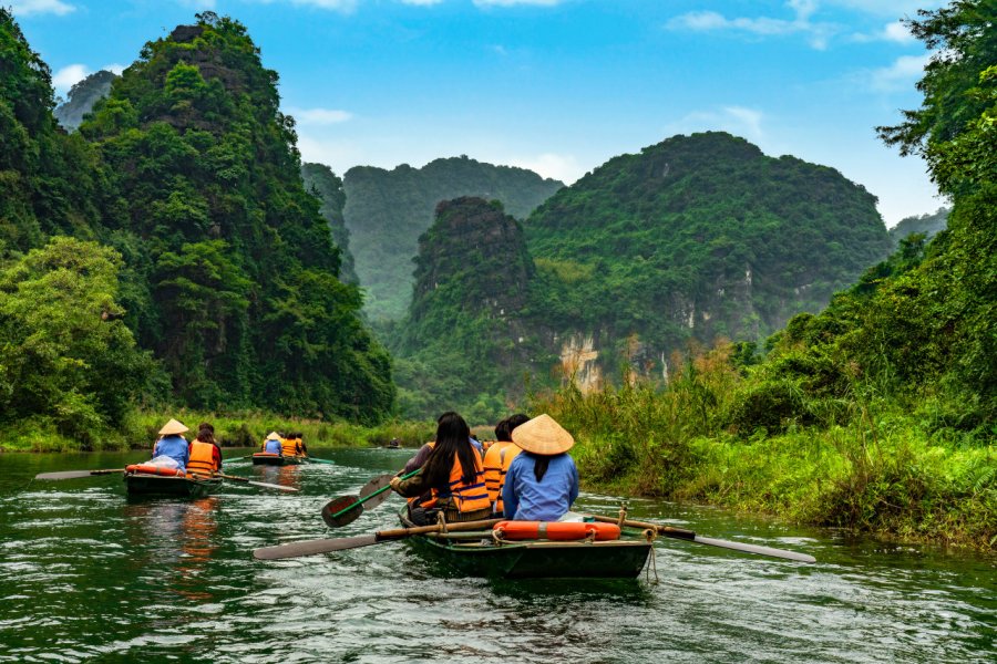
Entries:
[[[11,0],[8,0],[11,2]],[[943,204],[874,127],[919,105],[897,22],[934,0],[13,0],[56,91],[210,9],[280,74],[308,160],[466,154],[573,181],[675,134],[723,129],[825,164],[888,226]]]

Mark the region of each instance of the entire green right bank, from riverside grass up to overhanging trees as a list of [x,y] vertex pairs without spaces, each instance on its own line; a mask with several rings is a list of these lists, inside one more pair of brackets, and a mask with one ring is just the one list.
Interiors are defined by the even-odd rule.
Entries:
[[[720,345],[667,386],[551,395],[592,477],[856,530],[997,546],[997,6],[912,31],[924,104],[881,135],[953,208],[751,355]],[[747,360],[747,362],[746,362]]]

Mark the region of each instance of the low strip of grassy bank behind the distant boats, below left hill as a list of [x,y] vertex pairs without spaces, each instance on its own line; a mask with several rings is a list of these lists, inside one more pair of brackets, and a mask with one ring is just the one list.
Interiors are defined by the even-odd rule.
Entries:
[[[156,439],[156,432],[171,417],[176,417],[196,432],[202,422],[215,426],[223,447],[260,445],[273,430],[301,432],[306,445],[317,447],[371,447],[399,438],[405,447],[418,447],[432,437],[432,423],[389,422],[377,427],[362,427],[347,422],[299,419],[259,411],[206,413],[179,408],[169,412],[135,412],[122,423],[121,430],[102,432],[86,440],[70,438],[43,421],[27,421],[6,437],[3,452],[80,452],[144,449]],[[188,434],[189,436],[189,434]]]

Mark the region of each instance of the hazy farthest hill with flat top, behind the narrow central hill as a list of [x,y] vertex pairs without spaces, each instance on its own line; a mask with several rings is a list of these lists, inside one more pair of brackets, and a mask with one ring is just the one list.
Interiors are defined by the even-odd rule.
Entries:
[[436,159],[422,168],[358,166],[343,177],[345,208],[357,274],[372,320],[401,319],[412,293],[412,259],[419,236],[441,200],[481,196],[500,200],[523,219],[564,185],[532,170],[483,164],[466,156]]

